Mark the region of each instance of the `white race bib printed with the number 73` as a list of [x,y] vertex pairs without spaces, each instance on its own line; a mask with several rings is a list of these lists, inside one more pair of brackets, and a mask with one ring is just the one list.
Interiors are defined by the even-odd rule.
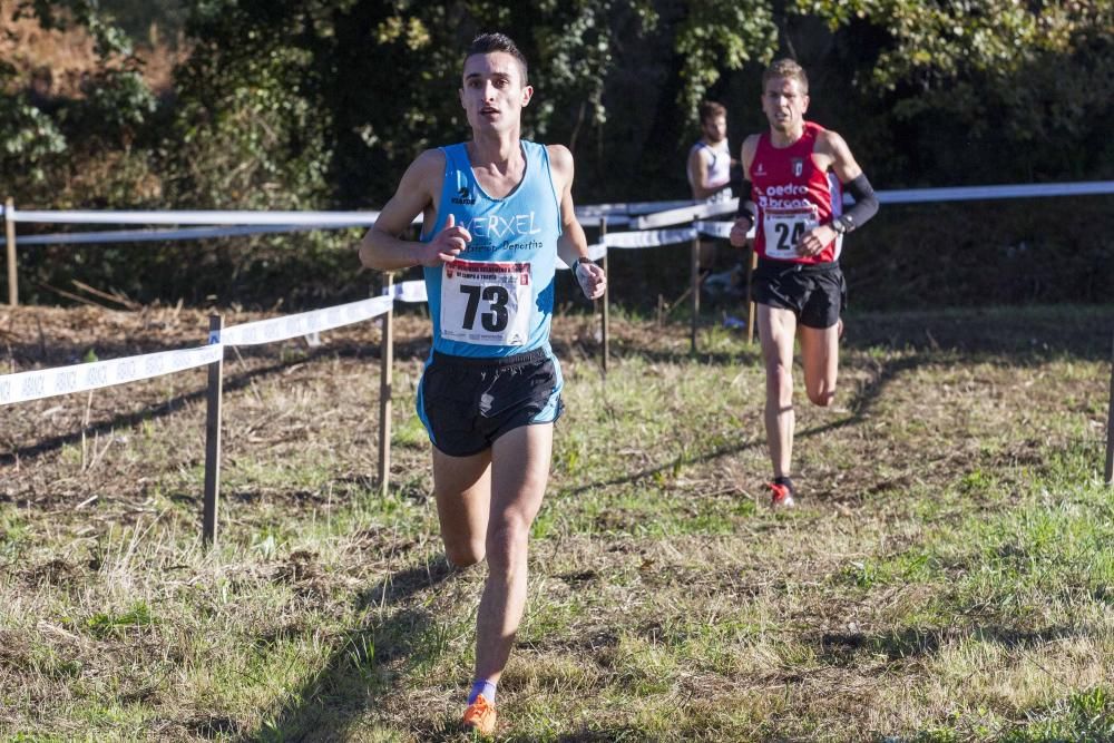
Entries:
[[461,261],[441,268],[441,336],[524,345],[534,314],[529,263]]

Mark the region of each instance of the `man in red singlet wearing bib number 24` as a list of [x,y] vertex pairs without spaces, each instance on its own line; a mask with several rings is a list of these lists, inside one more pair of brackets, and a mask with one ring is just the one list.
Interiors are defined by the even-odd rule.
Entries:
[[[762,76],[762,110],[770,129],[743,143],[743,184],[731,231],[742,246],[755,232],[759,265],[752,293],[766,368],[765,429],[773,506],[792,506],[793,349],[801,342],[809,400],[828,407],[839,373],[840,313],[847,284],[839,267],[843,236],[878,212],[867,176],[843,138],[804,120],[809,79],[790,59]],[[842,209],[842,192],[854,206]]]

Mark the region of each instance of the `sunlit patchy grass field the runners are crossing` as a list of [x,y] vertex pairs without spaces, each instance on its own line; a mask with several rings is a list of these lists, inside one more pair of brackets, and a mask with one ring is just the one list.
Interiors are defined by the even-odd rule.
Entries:
[[[604,380],[592,322],[558,317],[568,411],[500,736],[1114,740],[1112,310],[852,314],[776,514],[755,346],[619,317]],[[0,311],[13,369],[205,326]],[[0,409],[0,734],[467,740],[483,570],[439,547],[427,332],[399,319],[385,498],[374,325],[229,354],[212,553],[202,371]]]

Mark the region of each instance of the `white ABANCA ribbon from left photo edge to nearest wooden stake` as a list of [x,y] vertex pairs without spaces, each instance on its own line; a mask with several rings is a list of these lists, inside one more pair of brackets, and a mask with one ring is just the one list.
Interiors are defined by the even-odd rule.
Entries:
[[159,351],[125,359],[4,374],[0,377],[0,405],[162,377],[211,364],[218,361],[223,353],[224,348],[221,345],[203,345],[196,349]]

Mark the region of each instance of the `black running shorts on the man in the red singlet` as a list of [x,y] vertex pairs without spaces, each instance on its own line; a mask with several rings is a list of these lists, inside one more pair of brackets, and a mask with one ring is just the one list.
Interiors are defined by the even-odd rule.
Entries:
[[791,310],[800,324],[819,330],[838,323],[847,306],[847,282],[838,263],[760,260],[751,290],[759,304]]

